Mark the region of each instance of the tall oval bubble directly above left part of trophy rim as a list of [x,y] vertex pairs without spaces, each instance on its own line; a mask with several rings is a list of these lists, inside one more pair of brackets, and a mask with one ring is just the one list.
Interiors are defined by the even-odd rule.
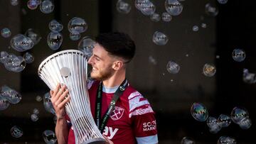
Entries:
[[47,37],[47,44],[50,49],[58,50],[63,43],[63,35],[58,32],[50,32]]

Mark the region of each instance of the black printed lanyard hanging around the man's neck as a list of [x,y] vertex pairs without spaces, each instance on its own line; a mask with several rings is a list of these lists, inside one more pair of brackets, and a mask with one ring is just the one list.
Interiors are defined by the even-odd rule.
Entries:
[[119,96],[122,96],[124,90],[127,88],[128,82],[127,79],[124,79],[122,84],[118,87],[116,92],[114,92],[114,96],[112,97],[112,100],[110,102],[110,106],[108,106],[108,109],[105,113],[105,115],[101,117],[102,112],[102,82],[100,82],[100,85],[97,89],[97,95],[96,95],[96,104],[95,104],[95,123],[97,127],[100,129],[100,132],[103,133],[104,128],[107,124],[107,120],[110,116],[110,113],[114,110],[115,103],[117,102],[117,99],[119,99]]

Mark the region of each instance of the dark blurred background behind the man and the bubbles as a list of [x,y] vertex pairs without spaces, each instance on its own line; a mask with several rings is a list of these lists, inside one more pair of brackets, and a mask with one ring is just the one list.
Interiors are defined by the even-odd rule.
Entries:
[[[44,143],[42,133],[46,129],[54,131],[53,114],[48,113],[43,101],[36,101],[49,91],[46,84],[38,77],[39,64],[54,52],[77,49],[79,40],[69,38],[68,21],[73,17],[84,18],[88,29],[83,36],[96,36],[98,33],[121,31],[131,35],[137,45],[137,53],[129,64],[127,78],[151,103],[156,112],[159,143],[181,143],[185,136],[193,138],[196,143],[217,143],[222,135],[228,135],[238,143],[255,143],[253,133],[256,131],[255,84],[242,80],[242,71],[247,68],[256,72],[255,38],[256,9],[254,1],[229,0],[227,4],[218,4],[216,0],[181,1],[183,11],[173,16],[170,22],[154,22],[144,16],[134,6],[134,0],[127,2],[132,6],[129,13],[119,13],[117,0],[54,0],[52,13],[42,13],[28,9],[26,1],[18,1],[12,6],[10,0],[0,0],[0,29],[9,28],[11,37],[25,33],[34,28],[42,36],[41,41],[31,50],[35,60],[26,65],[22,72],[9,72],[0,65],[0,87],[4,84],[21,93],[18,104],[11,104],[8,109],[0,111],[0,143]],[[156,13],[163,13],[164,0],[151,0],[156,6]],[[205,6],[215,4],[218,15],[208,16]],[[50,33],[48,23],[57,20],[63,24],[63,44],[58,50],[51,50],[47,45]],[[201,28],[206,23],[206,28]],[[198,26],[198,31],[193,31]],[[166,45],[152,42],[155,31],[161,31],[169,37]],[[10,48],[10,38],[0,36],[0,51],[23,55]],[[233,60],[235,48],[245,50],[246,58],[242,62]],[[156,65],[149,61],[154,57]],[[178,74],[166,70],[169,60],[181,66]],[[212,63],[216,67],[213,77],[203,74],[203,65]],[[243,106],[249,111],[252,126],[241,129],[231,123],[213,134],[208,131],[206,122],[196,121],[191,116],[193,102],[204,104],[209,116],[218,118],[220,114],[230,115],[235,106]],[[33,109],[38,109],[39,119],[31,121]],[[21,138],[10,134],[12,126],[23,129]]]

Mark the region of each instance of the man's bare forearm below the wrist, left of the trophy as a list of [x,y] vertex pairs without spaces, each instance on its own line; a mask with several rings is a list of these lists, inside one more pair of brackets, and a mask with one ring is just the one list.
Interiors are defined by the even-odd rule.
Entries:
[[55,126],[58,144],[68,143],[68,123],[65,118],[58,118]]

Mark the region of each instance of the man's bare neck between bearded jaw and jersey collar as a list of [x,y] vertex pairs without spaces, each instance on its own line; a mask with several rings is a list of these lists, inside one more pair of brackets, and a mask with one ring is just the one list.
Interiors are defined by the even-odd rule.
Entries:
[[125,71],[115,72],[110,78],[103,80],[105,87],[116,87],[122,84],[125,79]]

